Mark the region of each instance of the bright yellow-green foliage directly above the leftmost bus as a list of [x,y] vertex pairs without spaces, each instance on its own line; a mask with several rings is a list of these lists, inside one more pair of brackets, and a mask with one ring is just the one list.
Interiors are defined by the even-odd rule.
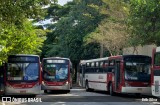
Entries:
[[[34,29],[32,23],[25,21],[21,27],[11,24],[2,27],[0,45],[0,59],[6,60],[10,54],[38,54],[44,40],[45,33],[37,34],[40,29]],[[41,30],[42,32],[42,30]]]

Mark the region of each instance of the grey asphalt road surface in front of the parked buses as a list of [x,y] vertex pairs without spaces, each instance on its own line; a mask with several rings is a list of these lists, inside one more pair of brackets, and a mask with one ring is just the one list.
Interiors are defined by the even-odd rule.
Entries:
[[159,99],[153,96],[142,95],[136,97],[133,94],[110,96],[104,91],[86,92],[85,89],[81,88],[71,89],[69,93],[65,91],[43,93],[42,91],[42,94],[36,97],[6,97],[12,97],[12,101],[15,102],[1,102],[2,105],[160,105]]

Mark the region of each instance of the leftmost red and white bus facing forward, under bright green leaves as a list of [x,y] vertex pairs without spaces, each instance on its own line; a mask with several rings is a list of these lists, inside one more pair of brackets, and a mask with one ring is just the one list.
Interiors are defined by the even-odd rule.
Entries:
[[41,92],[38,55],[9,55],[4,67],[5,95],[37,95]]

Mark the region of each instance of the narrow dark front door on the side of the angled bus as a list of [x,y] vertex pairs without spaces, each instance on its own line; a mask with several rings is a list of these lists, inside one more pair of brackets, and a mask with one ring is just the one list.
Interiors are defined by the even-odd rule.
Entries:
[[119,89],[120,84],[120,61],[115,62],[115,90],[117,91]]

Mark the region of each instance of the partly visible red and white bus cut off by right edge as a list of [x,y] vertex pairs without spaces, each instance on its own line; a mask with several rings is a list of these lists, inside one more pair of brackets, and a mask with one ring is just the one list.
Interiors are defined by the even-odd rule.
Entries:
[[151,86],[152,95],[160,97],[160,47],[153,48]]

